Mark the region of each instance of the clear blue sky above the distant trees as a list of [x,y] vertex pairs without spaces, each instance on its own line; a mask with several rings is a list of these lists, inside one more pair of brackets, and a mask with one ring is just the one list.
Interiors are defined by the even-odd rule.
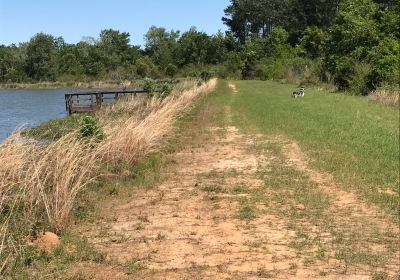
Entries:
[[26,42],[38,32],[77,43],[113,28],[142,45],[152,25],[181,31],[196,26],[213,34],[226,30],[221,18],[228,5],[229,0],[0,0],[0,44]]

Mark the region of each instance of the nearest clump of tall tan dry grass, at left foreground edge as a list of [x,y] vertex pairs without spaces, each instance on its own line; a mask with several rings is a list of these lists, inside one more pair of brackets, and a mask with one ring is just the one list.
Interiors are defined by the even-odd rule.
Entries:
[[0,146],[0,268],[23,256],[22,239],[37,225],[65,229],[78,192],[97,175],[97,158],[74,133],[45,146],[14,135]]

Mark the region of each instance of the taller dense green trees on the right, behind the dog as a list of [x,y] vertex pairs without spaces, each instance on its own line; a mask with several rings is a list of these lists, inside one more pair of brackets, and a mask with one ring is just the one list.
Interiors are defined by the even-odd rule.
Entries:
[[399,85],[398,0],[231,0],[225,13],[246,54],[244,78],[333,82],[356,94]]

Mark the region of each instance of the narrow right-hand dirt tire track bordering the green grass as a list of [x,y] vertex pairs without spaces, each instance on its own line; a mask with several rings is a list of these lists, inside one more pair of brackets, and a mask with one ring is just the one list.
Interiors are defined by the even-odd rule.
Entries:
[[[356,239],[352,246],[357,250],[383,255],[394,249],[392,257],[386,262],[384,271],[393,277],[399,276],[399,225],[391,221],[383,210],[366,204],[355,193],[343,190],[330,174],[311,168],[296,142],[287,141],[282,146],[288,164],[308,175],[309,179],[330,197],[329,215],[335,226],[347,235],[346,238],[349,241],[352,238]],[[360,266],[358,269],[360,272],[370,271],[368,266]]]

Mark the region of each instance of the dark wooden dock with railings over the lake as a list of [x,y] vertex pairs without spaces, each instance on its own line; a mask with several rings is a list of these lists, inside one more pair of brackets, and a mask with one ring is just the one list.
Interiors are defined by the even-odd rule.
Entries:
[[65,94],[65,107],[68,114],[90,113],[99,110],[106,104],[112,104],[128,94],[148,93],[142,88],[111,91],[92,91]]

